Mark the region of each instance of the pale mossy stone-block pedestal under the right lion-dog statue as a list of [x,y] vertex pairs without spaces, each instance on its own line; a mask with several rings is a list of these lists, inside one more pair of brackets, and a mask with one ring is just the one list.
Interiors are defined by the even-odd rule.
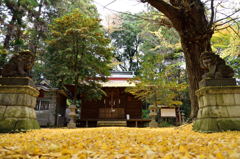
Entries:
[[199,103],[193,130],[220,132],[240,130],[240,87],[209,86],[196,91]]

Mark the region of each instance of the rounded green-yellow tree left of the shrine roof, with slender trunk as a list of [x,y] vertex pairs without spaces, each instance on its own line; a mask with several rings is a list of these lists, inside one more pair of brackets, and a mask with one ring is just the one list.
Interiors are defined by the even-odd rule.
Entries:
[[77,10],[55,19],[50,32],[47,78],[60,86],[74,84],[76,102],[81,86],[97,89],[94,79],[109,75],[110,40],[104,36],[99,19]]

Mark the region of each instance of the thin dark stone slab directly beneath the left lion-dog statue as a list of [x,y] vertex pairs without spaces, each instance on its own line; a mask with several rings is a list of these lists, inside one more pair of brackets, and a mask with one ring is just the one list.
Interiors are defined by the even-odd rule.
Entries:
[[35,84],[31,78],[27,77],[2,77],[0,78],[1,85],[29,85],[34,87]]

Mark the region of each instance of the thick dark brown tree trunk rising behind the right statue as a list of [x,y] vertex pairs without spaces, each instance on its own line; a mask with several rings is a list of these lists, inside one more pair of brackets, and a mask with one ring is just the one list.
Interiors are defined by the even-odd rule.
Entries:
[[199,59],[203,51],[211,50],[210,39],[213,33],[206,19],[204,6],[200,0],[179,0],[175,4],[168,4],[163,0],[147,2],[168,17],[181,37],[190,87],[190,117],[193,119],[198,112],[195,91],[199,89],[198,83],[203,73]]

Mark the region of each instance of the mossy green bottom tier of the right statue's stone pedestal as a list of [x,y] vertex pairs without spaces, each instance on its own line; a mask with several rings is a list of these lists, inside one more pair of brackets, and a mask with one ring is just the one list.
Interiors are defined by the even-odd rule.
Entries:
[[197,119],[193,130],[199,132],[240,131],[240,118],[206,118]]

